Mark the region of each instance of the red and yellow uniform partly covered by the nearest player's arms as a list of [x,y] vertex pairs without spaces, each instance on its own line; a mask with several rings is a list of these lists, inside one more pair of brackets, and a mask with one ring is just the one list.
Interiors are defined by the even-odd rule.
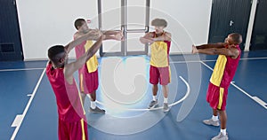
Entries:
[[[76,58],[80,58],[92,46],[92,41],[85,41],[84,43],[77,45],[77,47],[75,47]],[[98,89],[99,83],[97,66],[98,60],[96,55],[93,55],[92,58],[86,61],[84,66],[79,68],[79,88],[81,92],[89,94]]]

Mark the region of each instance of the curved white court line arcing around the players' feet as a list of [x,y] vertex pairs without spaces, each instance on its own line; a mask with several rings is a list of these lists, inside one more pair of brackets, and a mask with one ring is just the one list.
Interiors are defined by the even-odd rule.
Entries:
[[[185,100],[185,98],[188,97],[189,94],[190,94],[190,85],[189,85],[189,83],[186,82],[186,81],[182,78],[182,76],[179,76],[179,78],[182,79],[182,82],[184,82],[184,83],[186,84],[186,87],[187,87],[186,94],[185,94],[184,97],[182,97],[180,100],[174,102],[173,104],[170,104],[169,107],[181,103],[181,102],[182,102],[183,100]],[[87,97],[90,98],[90,96],[89,96],[88,94],[87,94]],[[99,102],[99,101],[97,101],[97,100],[96,100],[96,103],[105,106],[105,104],[103,104],[103,103],[101,103],[101,102]],[[127,111],[139,111],[139,112],[143,112],[143,111],[158,110],[158,109],[162,109],[162,108],[163,108],[163,106],[156,107],[156,108],[151,108],[151,109],[148,109],[148,108],[123,108],[123,107],[118,108],[118,109],[119,109],[119,110],[127,110]]]

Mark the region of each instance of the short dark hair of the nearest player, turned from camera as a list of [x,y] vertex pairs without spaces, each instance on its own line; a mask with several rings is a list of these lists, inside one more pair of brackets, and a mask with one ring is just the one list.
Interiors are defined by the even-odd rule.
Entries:
[[64,46],[54,45],[53,47],[49,48],[49,50],[48,50],[48,58],[51,61],[56,62],[60,59],[57,57],[57,55],[60,54],[61,52],[64,52],[64,51],[65,51]]

